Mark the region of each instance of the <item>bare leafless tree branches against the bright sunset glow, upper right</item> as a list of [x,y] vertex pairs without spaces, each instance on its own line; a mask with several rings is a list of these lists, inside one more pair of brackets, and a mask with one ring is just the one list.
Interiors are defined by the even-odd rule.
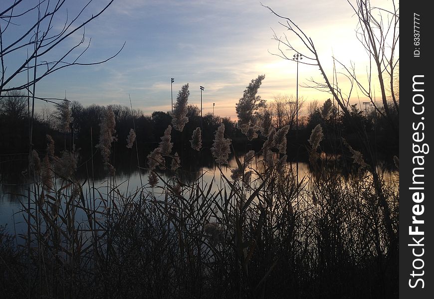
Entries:
[[[319,60],[318,52],[313,40],[308,37],[307,34],[294,21],[292,21],[291,18],[283,17],[274,12],[274,10],[272,10],[269,6],[264,6],[267,7],[273,14],[284,20],[279,22],[279,24],[285,27],[289,32],[295,34],[296,38],[304,45],[301,48],[296,49],[292,46],[286,34],[284,34],[282,37],[277,36],[277,34],[273,32],[273,38],[278,42],[279,50],[279,53],[274,55],[284,59],[292,60],[292,56],[288,56],[284,51],[290,50],[291,52],[303,55],[305,60],[299,61],[299,63],[317,66],[322,77],[324,78],[325,83],[311,79],[310,81],[312,84],[308,87],[331,93],[345,115],[349,116],[349,101],[351,98],[351,92],[354,86],[358,86],[364,95],[370,99],[372,104],[375,105],[377,112],[392,122],[385,82],[388,82],[388,85],[390,85],[392,101],[396,110],[399,111],[399,104],[396,99],[394,89],[394,73],[399,62],[399,58],[395,57],[397,44],[399,41],[399,8],[396,6],[394,0],[392,1],[391,9],[371,7],[369,0],[357,0],[355,5],[351,2],[349,3],[359,18],[359,26],[356,31],[357,37],[361,41],[362,46],[366,49],[366,52],[369,56],[370,64],[368,66],[368,82],[366,84],[362,78],[356,76],[354,64],[351,63],[350,66],[345,66],[343,63],[333,57],[334,62],[341,65],[341,67],[344,69],[344,72],[341,74],[344,75],[350,83],[350,88],[344,92],[338,84],[336,71],[333,72],[332,78],[326,75],[321,61]],[[376,76],[374,76],[374,72]],[[372,88],[376,78],[378,78],[378,86],[380,86],[381,89],[381,107],[378,107],[377,103],[375,102],[374,90]]]

